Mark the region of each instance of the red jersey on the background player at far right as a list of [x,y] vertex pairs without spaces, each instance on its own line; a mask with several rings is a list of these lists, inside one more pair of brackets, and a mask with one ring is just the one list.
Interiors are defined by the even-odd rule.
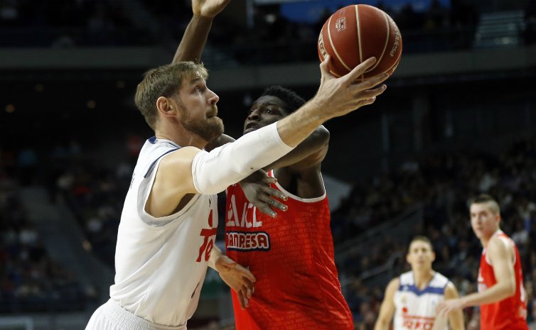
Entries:
[[[494,302],[493,304],[482,304],[481,309],[481,329],[486,330],[528,330],[527,326],[527,302],[525,288],[523,287],[523,274],[519,258],[518,247],[503,231],[497,231],[493,236],[504,237],[512,245],[515,251],[515,295],[512,297]],[[490,260],[486,258],[486,247],[483,248],[478,269],[478,292],[486,290],[495,285],[495,273]]]

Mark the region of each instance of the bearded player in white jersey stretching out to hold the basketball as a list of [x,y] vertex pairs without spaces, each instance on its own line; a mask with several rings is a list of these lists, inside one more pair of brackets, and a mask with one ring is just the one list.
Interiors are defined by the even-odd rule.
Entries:
[[[229,1],[193,0],[191,24],[210,26]],[[179,45],[175,59],[183,52]],[[155,136],[141,150],[125,199],[110,299],[87,330],[186,329],[208,265],[248,306],[253,275],[214,246],[216,194],[289,153],[325,121],[372,104],[385,91],[375,86],[387,74],[358,82],[375,58],[340,78],[329,72],[329,61],[321,63],[321,84],[308,103],[210,153],[203,148],[223,133],[223,122],[205,67],[173,62],[146,72],[135,101]]]

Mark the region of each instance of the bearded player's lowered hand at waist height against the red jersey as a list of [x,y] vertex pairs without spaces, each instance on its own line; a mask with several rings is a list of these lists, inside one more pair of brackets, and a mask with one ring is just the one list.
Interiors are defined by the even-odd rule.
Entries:
[[242,309],[250,307],[250,299],[255,291],[254,282],[256,281],[250,270],[237,264],[227,255],[223,255],[217,246],[214,246],[210,253],[208,265],[218,271],[223,282],[236,292],[240,307]]

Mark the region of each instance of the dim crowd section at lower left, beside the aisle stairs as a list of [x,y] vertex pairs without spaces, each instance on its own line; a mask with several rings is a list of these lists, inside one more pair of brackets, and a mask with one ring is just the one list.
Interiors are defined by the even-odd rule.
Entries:
[[0,313],[84,309],[80,282],[50,258],[28,221],[19,187],[0,166]]

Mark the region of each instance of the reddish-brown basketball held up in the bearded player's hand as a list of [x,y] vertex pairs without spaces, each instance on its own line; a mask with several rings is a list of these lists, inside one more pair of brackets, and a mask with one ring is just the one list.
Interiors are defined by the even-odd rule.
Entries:
[[345,6],[328,18],[318,36],[318,57],[323,61],[327,55],[336,77],[372,56],[376,62],[362,81],[384,72],[392,75],[402,57],[402,35],[385,11],[366,4]]

